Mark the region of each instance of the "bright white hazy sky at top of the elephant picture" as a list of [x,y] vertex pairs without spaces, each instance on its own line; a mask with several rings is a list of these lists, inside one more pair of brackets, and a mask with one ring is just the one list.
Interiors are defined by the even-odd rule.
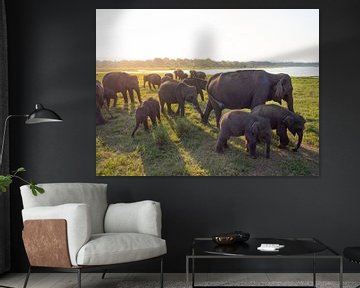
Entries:
[[318,9],[97,9],[96,59],[319,61]]

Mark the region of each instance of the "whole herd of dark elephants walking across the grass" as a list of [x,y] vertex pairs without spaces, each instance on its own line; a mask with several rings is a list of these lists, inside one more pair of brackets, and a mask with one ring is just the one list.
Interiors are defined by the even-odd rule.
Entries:
[[[189,77],[190,76],[190,77]],[[201,122],[208,124],[209,115],[215,112],[216,124],[219,128],[216,151],[224,152],[230,137],[245,136],[246,149],[251,158],[256,158],[256,145],[265,142],[265,156],[270,157],[270,143],[272,130],[280,139],[279,148],[287,148],[289,130],[294,136],[298,136],[296,146],[300,148],[305,119],[294,112],[293,87],[291,77],[288,74],[271,74],[263,70],[239,70],[234,72],[218,73],[206,80],[206,74],[202,71],[190,70],[190,75],[183,70],[177,69],[173,73],[166,73],[164,77],[158,74],[144,76],[144,88],[148,83],[149,89],[158,89],[159,101],[150,97],[141,100],[139,81],[137,76],[125,72],[107,73],[100,81],[96,81],[96,123],[105,123],[101,109],[105,106],[109,111],[110,101],[114,100],[116,107],[117,93],[121,93],[124,102],[135,103],[134,91],[137,94],[140,106],[135,112],[135,128],[132,132],[134,137],[138,127],[143,124],[148,130],[148,118],[152,125],[161,123],[161,113],[168,115],[185,116],[185,102],[192,103],[199,112]],[[204,101],[203,91],[207,91],[208,100],[204,111],[201,110],[198,95]],[[280,105],[265,104],[267,101],[275,101],[281,104],[284,100],[288,108]],[[165,104],[167,111],[165,112]],[[177,111],[171,109],[172,104],[177,104]],[[240,109],[248,108],[251,112]],[[224,115],[223,109],[230,109]],[[110,111],[109,111],[110,113]]]

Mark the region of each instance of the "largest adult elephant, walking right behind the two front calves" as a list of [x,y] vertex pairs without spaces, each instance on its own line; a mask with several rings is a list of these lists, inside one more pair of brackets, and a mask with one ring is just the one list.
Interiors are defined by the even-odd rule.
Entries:
[[263,70],[240,70],[213,75],[206,86],[207,102],[203,123],[208,123],[210,112],[214,109],[216,125],[219,127],[223,109],[254,108],[273,100],[281,104],[287,102],[290,111],[293,107],[293,87],[288,74],[271,74]]

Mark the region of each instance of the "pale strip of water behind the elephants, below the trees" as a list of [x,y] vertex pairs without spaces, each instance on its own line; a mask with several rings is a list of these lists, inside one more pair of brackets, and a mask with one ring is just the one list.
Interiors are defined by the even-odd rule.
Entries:
[[[204,71],[208,75],[213,75],[220,72],[229,72],[229,71],[237,71],[237,70],[248,70],[249,68],[235,68],[235,69],[196,69]],[[269,73],[277,74],[277,73],[286,73],[292,77],[310,77],[310,76],[319,76],[319,67],[316,66],[294,66],[294,67],[275,67],[275,68],[251,68],[256,70],[265,70]],[[137,70],[138,73],[147,73],[149,70]],[[136,73],[135,72],[135,73]],[[172,73],[174,70],[151,70],[153,73]],[[184,72],[189,73],[189,70],[184,70]],[[129,73],[134,73],[134,71],[129,71]]]

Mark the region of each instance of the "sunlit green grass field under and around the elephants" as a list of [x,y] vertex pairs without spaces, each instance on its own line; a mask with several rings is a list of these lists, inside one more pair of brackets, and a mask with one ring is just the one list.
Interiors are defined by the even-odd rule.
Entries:
[[[101,80],[104,74],[98,72],[97,80]],[[143,75],[137,75],[142,100],[150,96],[158,99],[157,90],[150,91],[148,86],[143,88]],[[114,118],[111,119],[103,110],[108,123],[96,127],[96,175],[319,175],[319,77],[292,78],[292,82],[294,109],[307,121],[303,144],[296,153],[290,149],[278,149],[278,139],[274,134],[270,159],[264,156],[263,144],[257,146],[258,158],[251,159],[245,151],[244,137],[232,138],[230,148],[224,154],[218,154],[215,152],[218,129],[214,113],[210,116],[210,125],[205,126],[191,104],[186,104],[184,118],[161,115],[160,126],[150,129],[150,132],[141,127],[132,138],[138,102],[125,105],[120,96],[117,107],[111,108]],[[205,97],[207,99],[206,93]],[[199,101],[204,110],[206,102],[201,102],[200,97]],[[290,133],[289,136],[291,145],[294,145],[295,138]]]

